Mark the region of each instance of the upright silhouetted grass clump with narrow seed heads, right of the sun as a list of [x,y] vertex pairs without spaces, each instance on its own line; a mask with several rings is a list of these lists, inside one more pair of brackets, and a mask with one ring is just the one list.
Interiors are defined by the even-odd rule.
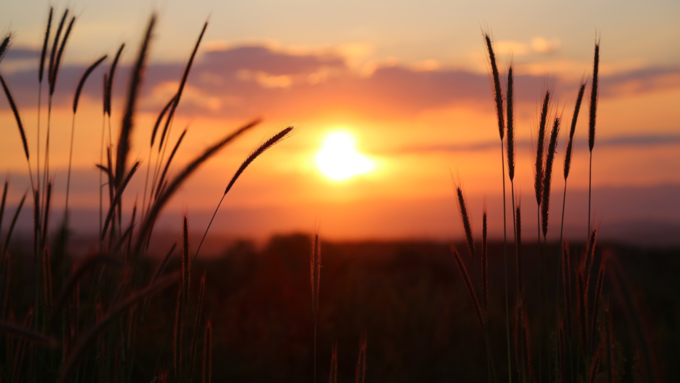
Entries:
[[[494,103],[498,119],[498,128],[501,138],[501,170],[503,174],[503,220],[506,227],[506,177],[511,184],[512,222],[514,232],[514,249],[516,260],[515,279],[517,288],[514,293],[509,288],[508,279],[508,239],[504,234],[503,241],[503,280],[505,301],[505,336],[497,336],[489,339],[489,326],[487,320],[489,307],[486,304],[488,294],[487,258],[479,262],[475,257],[474,239],[471,231],[470,214],[465,207],[465,201],[460,187],[457,188],[457,199],[461,213],[465,237],[470,253],[470,262],[473,263],[475,275],[481,266],[481,286],[475,284],[475,279],[470,277],[468,266],[459,252],[452,246],[452,253],[456,265],[463,277],[466,289],[472,300],[472,305],[478,321],[482,327],[482,333],[487,349],[487,376],[489,381],[507,380],[508,382],[615,382],[626,379],[641,379],[654,381],[657,377],[652,352],[649,343],[645,339],[644,331],[640,330],[639,316],[631,323],[636,328],[638,348],[634,352],[635,362],[632,367],[630,361],[622,356],[622,350],[618,347],[620,335],[613,331],[612,299],[611,291],[606,283],[612,278],[608,273],[608,265],[616,260],[607,253],[601,253],[597,249],[597,229],[591,230],[590,200],[592,181],[592,152],[594,147],[596,109],[598,98],[598,68],[599,68],[599,42],[595,44],[595,58],[593,64],[592,81],[590,87],[590,118],[588,131],[588,147],[590,152],[589,162],[589,193],[588,193],[588,236],[584,238],[585,248],[580,252],[574,252],[572,246],[564,240],[564,211],[566,206],[567,179],[572,159],[573,138],[576,122],[584,96],[586,83],[579,87],[574,106],[574,113],[569,130],[569,139],[564,157],[564,195],[562,204],[562,220],[560,227],[560,240],[558,246],[548,243],[548,230],[550,222],[550,197],[553,180],[553,168],[557,161],[556,153],[562,116],[555,111],[551,92],[548,90],[543,97],[540,108],[538,133],[536,134],[536,161],[534,174],[534,192],[536,197],[536,227],[538,243],[538,259],[534,260],[531,268],[538,270],[538,279],[532,283],[524,280],[528,264],[524,258],[525,249],[522,246],[522,221],[521,203],[515,196],[515,166],[514,166],[514,135],[513,122],[513,68],[508,68],[507,89],[505,105],[500,81],[500,72],[496,64],[496,56],[493,43],[489,35],[484,36],[486,48],[491,66],[491,78],[493,81]],[[504,113],[505,112],[505,113]],[[552,122],[551,122],[552,120]],[[548,128],[552,126],[547,134]],[[507,132],[507,135],[505,134]],[[549,137],[546,145],[546,136]],[[507,148],[507,149],[506,149]],[[505,153],[507,152],[507,174],[505,173]],[[484,226],[486,225],[486,209],[483,213]],[[485,231],[485,229],[484,229]],[[505,230],[504,230],[505,233]],[[484,235],[482,246],[486,247]],[[610,278],[607,278],[607,275]],[[479,278],[479,277],[478,277]],[[551,283],[552,281],[552,283]],[[619,288],[621,286],[618,286]],[[483,290],[484,304],[481,304],[476,290]],[[614,291],[614,293],[617,293]],[[619,293],[619,301],[625,295]],[[528,299],[528,295],[537,295],[538,298]],[[554,297],[550,299],[550,297]],[[514,300],[514,308],[510,309],[510,301]],[[623,302],[625,304],[625,302]],[[630,306],[629,306],[630,307]],[[514,314],[513,314],[514,312]],[[635,310],[629,313],[635,318]],[[512,318],[511,318],[512,317]],[[501,340],[502,339],[502,340]],[[512,339],[512,340],[511,340]],[[496,345],[492,347],[490,342]],[[500,343],[505,343],[505,349],[498,352]],[[494,352],[495,350],[495,352]],[[627,353],[630,355],[630,353]],[[499,360],[507,361],[499,363]],[[633,368],[634,373],[626,373],[626,369]]]

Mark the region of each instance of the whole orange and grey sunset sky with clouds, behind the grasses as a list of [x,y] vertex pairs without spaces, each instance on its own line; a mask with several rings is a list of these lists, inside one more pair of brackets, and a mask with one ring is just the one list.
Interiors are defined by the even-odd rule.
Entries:
[[[539,103],[549,90],[562,130],[556,154],[549,238],[559,235],[566,132],[581,81],[590,82],[601,42],[600,92],[593,152],[592,222],[604,238],[679,243],[680,3],[657,1],[8,1],[0,32],[13,33],[0,63],[21,110],[35,169],[37,68],[49,6],[76,16],[53,100],[50,176],[55,206],[65,198],[71,106],[78,79],[108,60],[85,85],[75,123],[71,207],[76,230],[91,230],[99,205],[102,77],[121,43],[112,138],[121,124],[129,68],[151,13],[158,14],[138,104],[133,158],[142,162],[126,197],[143,199],[153,123],[176,92],[186,61],[205,37],[173,120],[169,141],[187,134],[170,173],[244,123],[255,129],[220,152],[174,196],[162,229],[178,230],[187,213],[202,231],[240,163],[268,137],[293,133],[258,158],[218,212],[214,233],[263,238],[312,232],[330,239],[456,239],[462,236],[454,188],[466,195],[477,233],[484,204],[490,233],[502,236],[500,139],[483,33],[493,37],[503,79],[515,73],[517,176],[526,217],[535,216],[533,148]],[[590,86],[587,87],[590,92]],[[45,94],[43,93],[43,96]],[[43,98],[43,102],[46,98]],[[588,103],[575,135],[568,180],[567,236],[585,237]],[[46,129],[43,103],[41,128]],[[0,97],[0,163],[16,204],[29,181],[18,129]],[[345,132],[360,174],[333,179],[318,165],[328,135]],[[108,133],[107,133],[108,134]],[[326,140],[326,141],[325,141]],[[168,149],[169,150],[169,149]],[[152,158],[152,163],[153,163]],[[361,162],[359,161],[359,162]],[[337,178],[337,177],[335,177]],[[510,197],[508,197],[510,204]],[[59,209],[57,207],[57,209]],[[509,210],[508,210],[509,213]],[[89,217],[89,218],[87,218]],[[27,218],[28,219],[28,218]],[[536,221],[527,219],[527,232]],[[533,231],[531,231],[533,232]]]

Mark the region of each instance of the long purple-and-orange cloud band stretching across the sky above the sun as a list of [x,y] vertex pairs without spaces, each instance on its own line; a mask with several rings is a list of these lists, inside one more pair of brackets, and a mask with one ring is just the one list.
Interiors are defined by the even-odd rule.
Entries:
[[[519,45],[518,45],[519,44]],[[501,42],[500,47],[504,46]],[[549,53],[559,40],[535,37],[530,43],[505,44],[527,52]],[[268,45],[211,46],[198,57],[187,83],[181,112],[229,118],[253,115],[298,118],[310,111],[343,110],[375,116],[414,116],[423,111],[465,105],[487,108],[491,99],[489,76],[452,69],[434,61],[413,66],[377,64],[369,72],[348,64],[368,47],[292,50]],[[345,52],[345,53],[343,53]],[[346,53],[349,52],[349,53]],[[517,52],[515,52],[517,53]],[[36,51],[12,50],[11,57],[29,57]],[[345,56],[347,54],[348,56]],[[73,92],[87,64],[64,65],[60,71],[55,106],[72,102]],[[142,87],[142,110],[158,111],[174,93],[184,63],[152,63]],[[107,65],[97,69],[84,88],[84,95],[101,97],[101,78]],[[129,68],[116,74],[115,97],[127,89]],[[6,75],[20,108],[36,105],[35,68]],[[578,79],[560,75],[550,80],[559,92],[575,92]],[[546,88],[541,74],[521,73],[515,78],[518,103],[535,103]],[[680,88],[680,67],[644,67],[601,76],[601,97]],[[0,102],[0,108],[7,104]]]

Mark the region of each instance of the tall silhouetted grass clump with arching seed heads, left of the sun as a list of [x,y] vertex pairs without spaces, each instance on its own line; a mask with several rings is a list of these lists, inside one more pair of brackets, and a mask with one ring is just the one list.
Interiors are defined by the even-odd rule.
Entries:
[[[154,323],[149,323],[149,318],[152,321],[158,321],[163,316],[163,314],[153,312],[156,308],[150,309],[153,307],[151,300],[155,295],[177,286],[178,293],[174,304],[174,342],[165,342],[156,351],[156,365],[151,370],[144,369],[143,373],[146,374],[144,379],[146,381],[165,380],[171,373],[170,376],[177,381],[202,379],[203,382],[208,382],[211,380],[212,371],[213,326],[203,305],[205,276],[201,279],[197,294],[192,288],[191,275],[197,272],[196,270],[192,272],[192,260],[198,256],[198,250],[190,254],[186,217],[184,218],[184,236],[180,240],[182,243],[181,273],[166,272],[176,243],[170,246],[167,255],[153,273],[148,270],[149,261],[146,258],[154,224],[174,193],[203,163],[257,125],[259,121],[252,121],[236,129],[206,148],[203,153],[181,168],[176,175],[170,174],[172,159],[186,134],[185,130],[177,140],[171,154],[166,158],[173,116],[208,26],[206,23],[185,67],[177,93],[161,111],[153,130],[147,163],[147,186],[149,188],[144,191],[142,205],[137,206],[137,202],[132,206],[124,205],[126,187],[142,166],[139,161],[130,164],[129,157],[132,147],[131,137],[136,123],[135,111],[156,24],[156,16],[152,16],[131,69],[122,124],[115,142],[111,127],[111,99],[113,78],[124,45],[120,47],[108,73],[104,75],[102,146],[100,163],[97,164],[102,175],[98,182],[101,190],[104,191],[100,194],[99,251],[82,259],[73,258],[67,250],[69,248],[68,196],[78,101],[85,82],[96,72],[107,56],[101,57],[84,71],[74,95],[64,220],[60,224],[58,233],[50,233],[50,216],[57,202],[52,198],[54,183],[51,179],[53,170],[50,169],[52,104],[57,88],[59,66],[65,54],[69,36],[76,29],[76,17],[71,17],[67,24],[69,11],[65,10],[54,32],[53,43],[50,47],[53,13],[53,9],[50,8],[38,73],[35,177],[31,162],[33,158],[30,156],[33,149],[26,140],[26,127],[22,124],[20,109],[14,102],[9,84],[0,74],[5,97],[14,113],[20,133],[30,177],[30,194],[23,196],[7,230],[7,236],[0,247],[2,248],[0,259],[0,264],[2,264],[2,273],[0,273],[0,297],[2,297],[0,380],[6,382],[128,382],[133,376],[139,377],[140,367],[135,363],[139,357],[138,338],[144,329],[148,329],[149,325],[154,325]],[[10,43],[11,35],[8,35],[0,44],[0,58],[8,49],[11,49]],[[47,71],[49,98],[46,137],[42,142],[40,104],[45,70]],[[158,127],[164,118],[165,125],[158,140],[159,144],[154,146]],[[105,141],[107,130],[105,127],[108,127],[108,142]],[[226,196],[248,165],[284,138],[291,129],[292,127],[282,130],[246,158],[229,180],[222,198]],[[157,152],[153,163],[151,161],[152,151]],[[148,175],[151,173],[149,170],[152,165],[153,177],[149,184]],[[163,169],[162,172],[160,169]],[[92,180],[92,182],[96,183],[97,180]],[[6,180],[0,206],[0,229],[2,229],[7,189],[8,181]],[[105,195],[108,198],[104,197]],[[27,197],[29,204],[33,202],[33,243],[29,246],[33,254],[32,257],[27,254],[24,257],[17,257],[8,249],[10,249],[17,217],[24,210]],[[131,217],[129,222],[123,222],[124,215]],[[93,222],[92,226],[97,227],[97,223]],[[206,233],[207,231],[208,229]],[[30,262],[27,262],[29,259]],[[27,267],[32,271],[15,273],[13,272],[15,265]],[[15,280],[16,277],[20,278]],[[23,295],[27,291],[32,295],[31,298],[15,299],[15,297],[26,298]],[[164,315],[172,317],[172,310]],[[169,338],[169,334],[166,338]],[[171,358],[165,355],[167,348],[172,348]]]

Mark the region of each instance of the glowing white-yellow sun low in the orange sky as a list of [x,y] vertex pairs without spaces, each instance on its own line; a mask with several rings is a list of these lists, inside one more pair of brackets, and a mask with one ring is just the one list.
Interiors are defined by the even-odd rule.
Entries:
[[333,181],[348,180],[375,169],[374,161],[356,150],[354,137],[346,131],[326,135],[316,153],[316,166]]

